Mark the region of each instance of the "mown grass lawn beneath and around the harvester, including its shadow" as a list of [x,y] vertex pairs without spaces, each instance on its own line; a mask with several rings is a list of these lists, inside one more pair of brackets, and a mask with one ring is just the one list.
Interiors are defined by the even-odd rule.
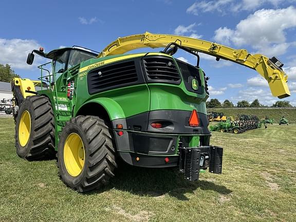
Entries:
[[223,174],[188,182],[175,170],[122,165],[102,190],[80,194],[55,161],[17,157],[14,124],[0,118],[0,221],[295,221],[296,125],[213,132]]

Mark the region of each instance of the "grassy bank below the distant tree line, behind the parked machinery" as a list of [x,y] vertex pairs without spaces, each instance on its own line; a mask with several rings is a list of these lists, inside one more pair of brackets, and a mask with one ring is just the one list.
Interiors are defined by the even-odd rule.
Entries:
[[289,120],[289,123],[296,123],[296,108],[208,108],[209,112],[223,112],[226,116],[236,116],[236,114],[256,115],[260,119],[269,116],[274,119],[274,123],[279,123],[282,116]]

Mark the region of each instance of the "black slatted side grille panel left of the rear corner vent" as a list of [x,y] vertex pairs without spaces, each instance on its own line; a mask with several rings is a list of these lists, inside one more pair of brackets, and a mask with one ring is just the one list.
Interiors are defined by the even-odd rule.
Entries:
[[104,66],[87,75],[89,94],[124,86],[138,81],[135,61]]

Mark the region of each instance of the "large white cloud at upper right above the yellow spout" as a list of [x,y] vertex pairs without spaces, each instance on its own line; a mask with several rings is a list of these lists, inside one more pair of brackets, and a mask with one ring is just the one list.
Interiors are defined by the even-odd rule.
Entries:
[[214,40],[235,46],[250,45],[256,53],[271,57],[286,52],[294,42],[286,42],[286,31],[296,27],[296,9],[261,9],[240,21],[235,29],[220,27]]

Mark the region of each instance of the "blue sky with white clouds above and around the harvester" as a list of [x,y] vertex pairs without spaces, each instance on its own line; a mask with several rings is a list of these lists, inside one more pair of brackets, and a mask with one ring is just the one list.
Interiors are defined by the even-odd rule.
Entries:
[[[36,79],[26,57],[32,49],[50,51],[81,45],[97,51],[118,37],[144,33],[192,36],[268,57],[276,55],[289,75],[296,106],[296,0],[218,1],[4,1],[0,13],[0,63],[9,63],[24,78]],[[160,49],[157,49],[160,50]],[[149,51],[149,49],[146,49]],[[195,63],[186,53],[178,58]],[[256,71],[202,56],[200,67],[210,77],[211,98],[271,105],[265,80]]]

